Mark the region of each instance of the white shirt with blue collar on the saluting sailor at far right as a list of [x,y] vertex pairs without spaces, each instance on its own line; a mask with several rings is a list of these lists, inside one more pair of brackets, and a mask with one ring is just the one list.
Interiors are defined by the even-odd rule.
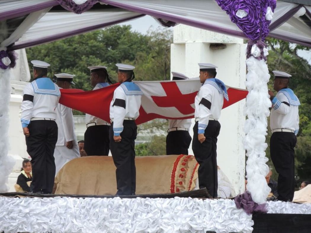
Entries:
[[289,129],[297,135],[299,131],[299,105],[299,99],[291,89],[281,89],[272,99],[271,130]]

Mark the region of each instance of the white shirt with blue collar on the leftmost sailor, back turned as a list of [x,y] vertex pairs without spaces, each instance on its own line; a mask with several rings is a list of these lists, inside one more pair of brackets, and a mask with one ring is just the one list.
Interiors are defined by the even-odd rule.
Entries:
[[31,118],[56,119],[56,107],[60,91],[56,84],[47,77],[37,78],[23,90],[21,104],[22,127],[28,127]]

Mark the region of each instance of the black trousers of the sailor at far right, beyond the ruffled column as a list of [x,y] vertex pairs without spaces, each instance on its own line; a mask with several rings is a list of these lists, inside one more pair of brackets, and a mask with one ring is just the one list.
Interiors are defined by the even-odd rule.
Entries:
[[270,155],[276,172],[278,199],[292,201],[295,191],[296,135],[290,132],[274,132],[270,138]]

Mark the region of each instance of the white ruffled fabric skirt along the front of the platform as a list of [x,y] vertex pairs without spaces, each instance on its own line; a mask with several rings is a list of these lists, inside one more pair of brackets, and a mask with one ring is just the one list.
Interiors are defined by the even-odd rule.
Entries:
[[0,197],[0,206],[0,232],[247,233],[254,224],[230,199]]

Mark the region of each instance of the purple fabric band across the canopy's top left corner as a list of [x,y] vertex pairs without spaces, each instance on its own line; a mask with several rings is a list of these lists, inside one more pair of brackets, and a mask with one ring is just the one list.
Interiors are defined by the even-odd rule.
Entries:
[[57,0],[51,0],[49,2],[43,2],[43,3],[39,3],[37,5],[31,5],[29,7],[18,8],[16,10],[12,10],[12,11],[6,11],[6,12],[3,12],[0,14],[0,21],[24,16],[24,15],[27,15],[29,13],[32,13],[35,11],[40,11],[40,10],[43,10],[45,8],[53,7],[53,6],[57,6],[57,5],[58,5]]

